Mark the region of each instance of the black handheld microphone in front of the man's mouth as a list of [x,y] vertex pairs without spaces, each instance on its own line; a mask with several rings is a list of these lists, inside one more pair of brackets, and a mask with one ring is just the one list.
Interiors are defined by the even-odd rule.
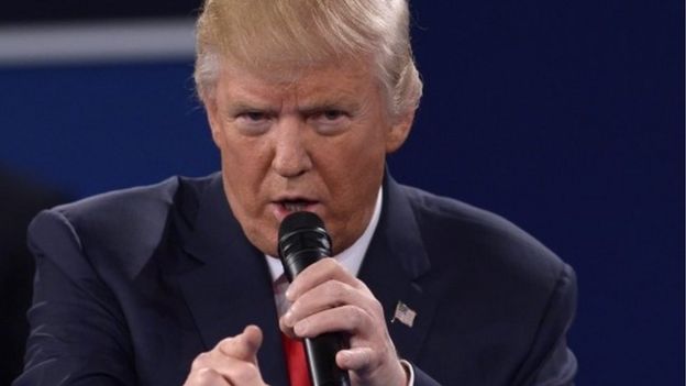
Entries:
[[[312,212],[288,214],[278,233],[278,253],[288,282],[310,264],[331,256],[331,238],[324,222]],[[347,343],[338,333],[323,333],[305,339],[308,370],[312,386],[350,386],[347,371],[335,363],[335,354]]]

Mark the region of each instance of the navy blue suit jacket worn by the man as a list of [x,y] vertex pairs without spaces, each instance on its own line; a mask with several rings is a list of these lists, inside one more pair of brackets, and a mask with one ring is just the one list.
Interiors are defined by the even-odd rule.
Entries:
[[[573,271],[506,220],[384,181],[358,277],[381,302],[417,385],[568,385]],[[264,379],[287,385],[270,276],[219,174],[42,212],[32,327],[16,385],[179,385],[190,363],[248,323]],[[402,301],[410,328],[391,322]]]

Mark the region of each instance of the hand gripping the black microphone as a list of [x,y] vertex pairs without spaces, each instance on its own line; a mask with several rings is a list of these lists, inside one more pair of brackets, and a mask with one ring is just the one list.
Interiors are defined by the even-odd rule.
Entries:
[[336,364],[350,371],[353,385],[407,385],[390,340],[384,309],[367,286],[333,258],[302,271],[286,291],[292,302],[279,319],[291,338],[313,338],[342,331],[350,349],[336,354]]

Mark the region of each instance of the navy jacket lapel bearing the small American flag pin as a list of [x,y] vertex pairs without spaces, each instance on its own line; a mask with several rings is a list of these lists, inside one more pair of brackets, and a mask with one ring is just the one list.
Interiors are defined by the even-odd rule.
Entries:
[[[384,306],[396,349],[409,361],[417,357],[435,311],[436,296],[428,294],[420,279],[429,269],[410,202],[402,188],[386,175],[381,218],[358,276]],[[398,302],[417,313],[411,327],[394,321]]]

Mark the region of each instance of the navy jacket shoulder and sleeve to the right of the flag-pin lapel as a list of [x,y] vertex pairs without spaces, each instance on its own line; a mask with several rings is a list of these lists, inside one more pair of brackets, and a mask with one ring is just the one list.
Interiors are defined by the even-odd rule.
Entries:
[[[464,374],[497,370],[469,375],[466,384],[528,385],[544,376],[568,384],[576,371],[565,341],[576,310],[573,269],[500,216],[411,187],[401,191],[430,266],[418,285],[438,305],[422,355],[468,359]],[[444,384],[461,377],[420,365]]]

